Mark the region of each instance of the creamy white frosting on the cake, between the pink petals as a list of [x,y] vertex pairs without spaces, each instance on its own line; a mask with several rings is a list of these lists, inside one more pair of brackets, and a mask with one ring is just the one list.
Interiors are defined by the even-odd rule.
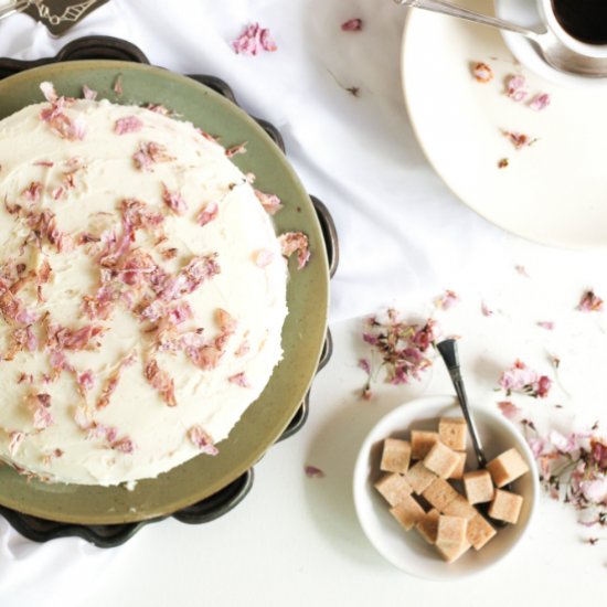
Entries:
[[[271,221],[251,184],[225,150],[192,125],[143,108],[77,100],[64,111],[71,119],[78,119],[78,125],[82,121],[85,135],[82,140],[71,140],[41,119],[41,110],[49,107],[29,106],[0,121],[0,264],[12,263],[14,267],[18,262],[24,263],[22,276],[40,269],[44,260],[52,268],[49,281],[42,285],[42,301],[32,280],[15,294],[24,308],[38,315],[31,331],[39,345],[35,351],[25,349],[12,360],[0,361],[0,458],[55,481],[117,484],[152,478],[200,454],[189,436],[192,427],[202,428],[214,444],[224,439],[265,387],[281,358],[286,264]],[[116,121],[129,116],[140,118],[143,127],[118,135]],[[137,169],[134,155],[149,141],[164,146],[173,160],[153,163],[150,170]],[[74,173],[74,185],[67,188],[64,180],[75,166],[75,161],[70,163],[72,159],[78,159],[79,168]],[[51,162],[52,167],[46,166]],[[42,184],[42,191],[40,200],[32,201],[26,191],[35,182]],[[162,183],[169,191],[181,193],[188,205],[185,214],[180,216],[167,206]],[[54,200],[53,192],[56,195],[62,184],[64,192]],[[227,311],[237,322],[214,369],[200,369],[183,349],[153,354],[160,369],[174,381],[175,406],[168,406],[145,376],[145,361],[157,336],[149,329],[157,323],[142,321],[125,300],[116,303],[107,320],[90,319],[85,313],[83,297],[95,296],[100,285],[97,259],[104,244],[76,244],[73,251],[60,253],[42,237],[40,245],[30,242],[23,247],[32,228],[25,211],[17,213],[13,207],[50,209],[58,230],[76,242],[82,233],[105,241],[113,230],[120,234],[119,209],[125,199],[142,201],[163,215],[161,230],[168,239],[156,244],[158,233],[140,228],[135,232],[131,251],[147,251],[166,271],[175,275],[193,257],[217,254],[221,271],[179,298],[190,303],[194,317],[175,330],[203,328],[203,337],[212,342],[221,332],[217,309]],[[216,219],[200,225],[198,214],[212,202],[219,203]],[[160,255],[162,249],[173,247],[177,257],[166,259]],[[265,253],[268,251],[271,256]],[[256,264],[259,252],[265,258],[271,257],[264,267]],[[0,283],[0,291],[7,286],[10,281],[4,287]],[[100,337],[93,338],[87,349],[64,351],[76,372],[93,372],[90,391],[78,391],[71,371],[63,370],[55,380],[44,381],[44,374],[52,371],[46,345],[49,319],[41,320],[46,312],[52,322],[70,329],[103,327]],[[19,327],[25,323],[0,316],[2,358]],[[244,342],[249,348],[243,354]],[[109,374],[131,352],[136,353],[135,362],[124,368],[109,404],[98,408],[96,403]],[[239,373],[245,373],[248,386],[230,381]],[[36,394],[50,395],[46,413],[53,418],[51,425],[39,429],[34,428],[32,409]],[[88,408],[97,428],[116,428],[113,440],[107,435],[92,436],[94,433],[83,429],[82,423],[78,426],[75,413],[83,407]],[[135,445],[132,452],[116,448],[124,438]],[[58,456],[56,449],[61,450]]]

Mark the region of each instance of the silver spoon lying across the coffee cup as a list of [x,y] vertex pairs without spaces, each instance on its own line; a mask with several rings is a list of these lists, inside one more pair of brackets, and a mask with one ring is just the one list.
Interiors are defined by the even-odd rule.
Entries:
[[560,72],[588,76],[592,78],[604,78],[607,76],[607,57],[589,57],[587,55],[576,53],[565,46],[547,28],[543,30],[521,28],[520,25],[510,23],[503,19],[480,14],[469,9],[458,7],[452,2],[447,2],[446,0],[394,1],[397,4],[403,4],[405,7],[439,12],[441,14],[448,14],[450,17],[472,21],[473,23],[490,25],[491,28],[498,28],[500,30],[507,30],[509,32],[521,34],[533,43],[547,64],[552,65],[552,67],[558,70]]

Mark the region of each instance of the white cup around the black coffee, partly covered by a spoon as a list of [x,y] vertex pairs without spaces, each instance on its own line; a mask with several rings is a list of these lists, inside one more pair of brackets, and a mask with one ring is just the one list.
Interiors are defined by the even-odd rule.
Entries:
[[[494,0],[493,3],[496,15],[507,21],[526,28],[537,28],[542,24],[536,0]],[[490,3],[483,2],[483,6],[490,6]],[[607,78],[585,78],[554,70],[540,56],[531,42],[522,35],[513,32],[502,32],[502,36],[510,52],[522,65],[549,82],[563,86],[583,86],[592,89],[607,88]]]

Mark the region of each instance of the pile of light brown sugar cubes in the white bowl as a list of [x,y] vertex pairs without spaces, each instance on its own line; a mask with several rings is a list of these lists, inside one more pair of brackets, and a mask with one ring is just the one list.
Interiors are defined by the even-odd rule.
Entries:
[[[416,529],[448,563],[470,546],[480,550],[496,529],[475,508],[489,503],[491,519],[515,523],[523,498],[501,489],[529,471],[514,448],[466,471],[468,430],[460,417],[441,417],[438,432],[411,430],[411,441],[386,438],[375,488],[391,505],[391,514],[407,530]],[[412,461],[415,461],[412,466]],[[466,497],[451,481],[461,481]]]

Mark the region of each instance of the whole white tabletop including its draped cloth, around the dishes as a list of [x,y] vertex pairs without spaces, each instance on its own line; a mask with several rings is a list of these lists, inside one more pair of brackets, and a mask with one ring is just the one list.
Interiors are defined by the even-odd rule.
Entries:
[[[340,24],[354,17],[363,19],[362,31],[342,32]],[[315,384],[307,426],[256,467],[246,500],[212,524],[167,521],[110,551],[75,539],[38,545],[0,520],[2,607],[468,606],[480,597],[498,606],[526,597],[563,605],[565,596],[596,600],[597,590],[607,589],[607,541],[589,547],[575,517],[546,500],[519,556],[473,586],[406,576],[375,554],[356,524],[350,473],[372,422],[416,390],[448,390],[435,371],[413,392],[387,390],[376,404],[362,404],[358,317],[384,305],[430,313],[435,296],[457,288],[466,302],[444,320],[451,331],[468,331],[471,392],[489,406],[500,365],[525,353],[545,363],[544,338],[530,329],[533,315],[561,318],[571,327],[561,336],[562,349],[587,354],[588,322],[579,324],[569,310],[588,286],[607,292],[604,252],[556,251],[508,235],[457,201],[430,169],[403,103],[404,17],[390,0],[111,0],[61,39],[25,15],[0,22],[0,56],[54,55],[70,40],[107,34],[137,44],[153,64],[224,78],[246,110],[280,129],[303,184],[331,210],[341,247],[330,311],[336,355]],[[231,41],[256,21],[270,29],[278,51],[236,55]],[[360,89],[356,97],[344,90],[351,86]],[[535,281],[522,283],[515,264],[525,264]],[[493,326],[478,311],[484,298],[503,312]],[[595,359],[607,362],[601,341],[593,339]],[[491,364],[483,362],[488,353],[496,353]],[[584,403],[586,420],[600,414],[607,391],[593,383],[588,370],[596,361],[584,365],[575,361],[593,358],[573,354],[569,392],[594,398]],[[587,381],[579,387],[576,379]],[[574,406],[567,394],[563,400]],[[321,466],[327,477],[307,479],[305,464]]]

